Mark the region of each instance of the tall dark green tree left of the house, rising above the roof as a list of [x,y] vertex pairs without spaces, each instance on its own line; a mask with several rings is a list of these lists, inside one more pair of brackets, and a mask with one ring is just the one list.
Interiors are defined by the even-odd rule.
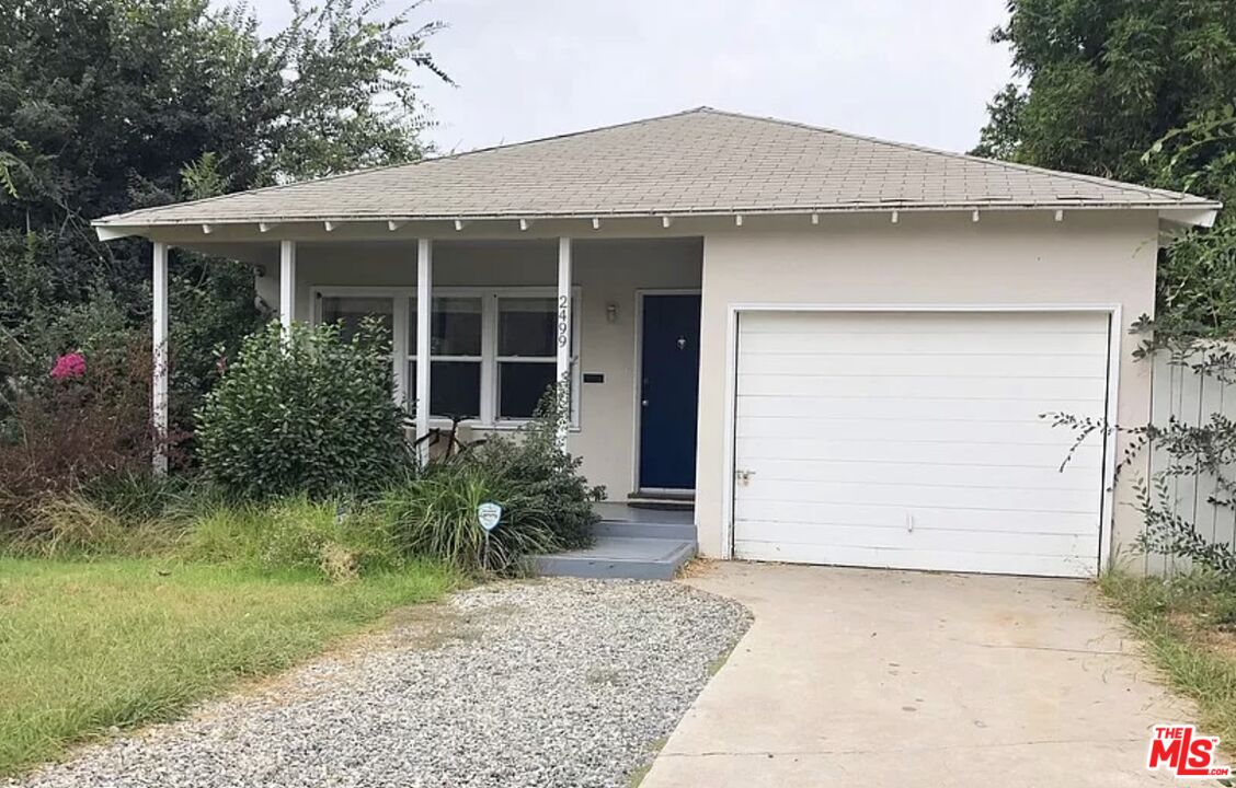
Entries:
[[[0,2],[0,379],[88,342],[83,316],[148,317],[146,245],[99,243],[91,219],[420,157],[414,79],[446,78],[425,49],[440,23],[379,6],[292,0],[262,37],[208,0]],[[255,325],[252,275],[176,270],[173,351],[200,388],[210,347]]]

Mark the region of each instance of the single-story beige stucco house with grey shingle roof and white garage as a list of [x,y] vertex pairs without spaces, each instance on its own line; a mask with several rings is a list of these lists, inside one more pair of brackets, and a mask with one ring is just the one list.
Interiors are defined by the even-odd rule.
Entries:
[[284,322],[387,316],[420,434],[569,380],[590,480],[693,498],[706,556],[1090,576],[1142,527],[1121,446],[1062,469],[1041,414],[1148,420],[1130,324],[1219,207],[702,107],[95,227],[154,242],[159,358],[174,245]]

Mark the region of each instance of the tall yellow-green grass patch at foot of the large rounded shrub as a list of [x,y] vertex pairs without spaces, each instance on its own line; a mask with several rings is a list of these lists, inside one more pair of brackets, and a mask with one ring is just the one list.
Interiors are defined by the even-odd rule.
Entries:
[[404,563],[375,509],[305,495],[216,506],[194,522],[184,556],[262,572],[308,571],[331,581]]

